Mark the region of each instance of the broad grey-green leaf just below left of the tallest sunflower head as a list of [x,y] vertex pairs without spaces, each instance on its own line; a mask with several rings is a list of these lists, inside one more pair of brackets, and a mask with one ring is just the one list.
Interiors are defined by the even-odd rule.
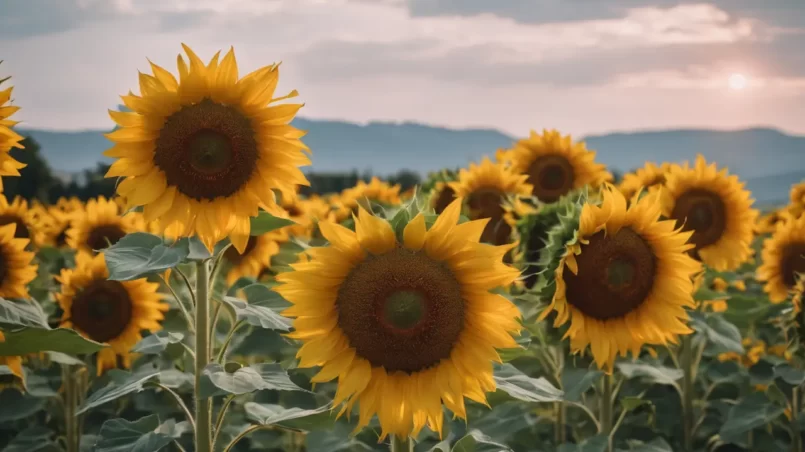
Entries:
[[179,265],[187,259],[190,247],[186,238],[166,245],[156,235],[135,232],[120,239],[103,254],[110,280],[131,281]]

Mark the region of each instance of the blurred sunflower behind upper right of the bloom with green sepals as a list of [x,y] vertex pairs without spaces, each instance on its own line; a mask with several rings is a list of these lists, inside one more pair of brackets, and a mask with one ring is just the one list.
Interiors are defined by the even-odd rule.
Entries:
[[752,254],[758,211],[738,176],[707,164],[672,166],[663,190],[663,214],[692,231],[693,255],[718,271],[737,268]]

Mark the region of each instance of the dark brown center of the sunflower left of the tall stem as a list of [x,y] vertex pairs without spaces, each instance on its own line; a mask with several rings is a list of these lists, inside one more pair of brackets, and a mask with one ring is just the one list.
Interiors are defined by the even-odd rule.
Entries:
[[93,281],[75,296],[70,309],[75,326],[97,342],[120,336],[131,317],[131,297],[119,281]]

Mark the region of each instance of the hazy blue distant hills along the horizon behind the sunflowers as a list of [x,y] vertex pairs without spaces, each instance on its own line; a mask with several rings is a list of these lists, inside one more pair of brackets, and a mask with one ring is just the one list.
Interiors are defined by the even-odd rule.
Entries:
[[[308,130],[305,143],[313,150],[307,171],[371,170],[392,174],[400,169],[420,173],[464,166],[514,140],[492,129],[446,129],[413,123],[372,122],[366,125],[299,118]],[[91,168],[109,161],[101,153],[109,147],[103,131],[54,132],[23,130],[42,147],[52,168],[62,173]],[[805,179],[805,137],[773,129],[737,131],[667,130],[612,133],[585,137],[598,159],[619,171],[643,162],[682,162],[702,153],[726,165],[747,182],[758,202],[782,201],[790,185]]]

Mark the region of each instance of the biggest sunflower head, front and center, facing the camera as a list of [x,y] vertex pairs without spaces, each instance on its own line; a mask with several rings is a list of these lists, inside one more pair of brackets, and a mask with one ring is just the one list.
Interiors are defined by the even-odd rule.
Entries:
[[520,313],[490,293],[518,277],[502,263],[510,247],[479,243],[485,221],[456,224],[460,210],[457,199],[430,229],[419,213],[395,232],[359,208],[356,232],[322,222],[330,246],[277,276],[299,366],[322,367],[313,382],[338,378],[335,405],[359,406],[358,429],[377,413],[381,441],[441,434],[441,402],[466,418],[464,397],[495,390],[495,349],[516,346]]

